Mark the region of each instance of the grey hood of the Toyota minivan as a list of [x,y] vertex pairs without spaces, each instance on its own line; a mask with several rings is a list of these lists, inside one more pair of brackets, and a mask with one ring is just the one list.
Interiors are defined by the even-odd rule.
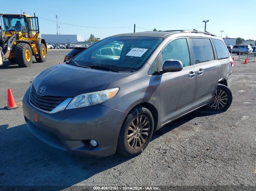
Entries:
[[[112,81],[130,74],[61,64],[41,72],[33,86],[40,96],[75,97],[82,93],[105,90]],[[38,89],[42,86],[46,89],[39,93]]]

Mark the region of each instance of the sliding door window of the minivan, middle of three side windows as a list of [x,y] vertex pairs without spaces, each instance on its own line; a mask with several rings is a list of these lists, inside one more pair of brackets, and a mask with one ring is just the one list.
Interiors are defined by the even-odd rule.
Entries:
[[214,60],[210,39],[191,38],[194,51],[195,64]]

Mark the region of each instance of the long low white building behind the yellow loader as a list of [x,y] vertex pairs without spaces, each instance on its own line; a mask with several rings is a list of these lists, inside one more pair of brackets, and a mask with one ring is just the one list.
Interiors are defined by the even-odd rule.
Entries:
[[78,34],[42,34],[42,38],[45,39],[46,43],[65,43],[65,44],[74,44],[78,41],[85,41],[85,37],[82,37]]

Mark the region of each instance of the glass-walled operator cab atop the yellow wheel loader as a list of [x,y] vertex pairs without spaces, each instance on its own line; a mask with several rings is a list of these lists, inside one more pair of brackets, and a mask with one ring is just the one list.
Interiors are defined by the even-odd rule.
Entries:
[[25,14],[0,14],[0,20],[4,29],[5,36],[12,35],[16,32],[20,32],[18,36],[25,38],[36,37],[37,39],[39,36],[37,17],[31,17]]

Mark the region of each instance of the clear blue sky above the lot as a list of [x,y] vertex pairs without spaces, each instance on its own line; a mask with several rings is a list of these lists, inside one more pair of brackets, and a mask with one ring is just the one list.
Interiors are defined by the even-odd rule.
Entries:
[[[243,10],[244,8],[244,10]],[[56,14],[60,22],[61,34],[79,34],[86,39],[90,34],[101,39],[108,36],[153,30],[197,29],[204,31],[203,20],[209,20],[206,31],[230,38],[241,37],[256,40],[256,1],[162,1],[162,0],[44,0],[14,3],[5,6],[3,13],[26,14],[39,18],[41,34],[56,34]],[[42,18],[52,20],[47,21]],[[73,24],[87,27],[69,26]],[[88,28],[88,27],[128,27],[128,28]],[[145,29],[142,29],[142,28]]]

